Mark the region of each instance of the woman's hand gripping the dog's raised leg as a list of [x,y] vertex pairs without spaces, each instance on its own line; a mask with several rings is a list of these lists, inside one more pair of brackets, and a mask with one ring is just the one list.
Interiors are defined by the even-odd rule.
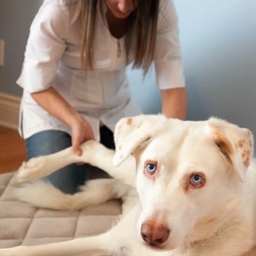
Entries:
[[81,144],[86,140],[94,140],[93,130],[90,123],[86,121],[80,114],[76,114],[74,121],[71,124],[72,129],[72,148],[78,156],[81,156]]

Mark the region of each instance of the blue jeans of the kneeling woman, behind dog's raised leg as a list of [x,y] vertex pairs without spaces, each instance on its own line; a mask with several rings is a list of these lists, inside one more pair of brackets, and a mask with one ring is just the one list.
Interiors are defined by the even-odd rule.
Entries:
[[[100,128],[102,144],[114,148],[113,133],[105,126]],[[36,156],[45,156],[72,146],[72,138],[69,134],[60,130],[45,130],[29,137],[26,142],[27,159]],[[50,181],[55,187],[69,194],[74,194],[80,185],[86,180],[86,165],[77,166],[71,164],[52,173],[44,180]]]

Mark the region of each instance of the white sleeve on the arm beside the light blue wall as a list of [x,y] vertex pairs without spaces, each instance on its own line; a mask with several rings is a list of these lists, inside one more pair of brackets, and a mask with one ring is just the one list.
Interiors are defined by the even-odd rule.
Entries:
[[159,89],[184,87],[178,18],[172,0],[161,0],[154,53]]

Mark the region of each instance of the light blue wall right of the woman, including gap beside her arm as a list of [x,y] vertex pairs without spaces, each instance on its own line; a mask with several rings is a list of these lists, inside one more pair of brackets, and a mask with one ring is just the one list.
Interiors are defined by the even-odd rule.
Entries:
[[[189,95],[187,119],[217,116],[256,135],[256,1],[175,0],[175,5]],[[160,111],[154,72],[142,86],[141,74],[129,69],[128,75],[143,111]]]

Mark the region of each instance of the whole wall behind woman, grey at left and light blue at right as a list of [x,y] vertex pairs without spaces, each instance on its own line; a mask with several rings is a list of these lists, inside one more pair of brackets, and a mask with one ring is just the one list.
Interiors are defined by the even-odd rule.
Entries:
[[[163,0],[165,1],[165,0]],[[187,119],[218,116],[256,134],[256,1],[174,0],[180,17],[180,40],[189,95]],[[41,0],[0,0],[0,38],[6,62],[0,67],[0,92],[20,96],[15,84],[29,25]],[[128,79],[145,113],[160,112],[154,72]]]

